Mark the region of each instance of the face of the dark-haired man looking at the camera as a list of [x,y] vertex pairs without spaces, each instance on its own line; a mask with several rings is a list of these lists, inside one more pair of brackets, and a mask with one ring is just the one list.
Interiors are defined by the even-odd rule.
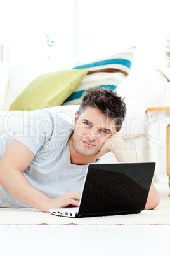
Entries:
[[97,108],[88,107],[79,116],[75,113],[72,149],[84,157],[96,155],[105,141],[116,132],[115,122]]

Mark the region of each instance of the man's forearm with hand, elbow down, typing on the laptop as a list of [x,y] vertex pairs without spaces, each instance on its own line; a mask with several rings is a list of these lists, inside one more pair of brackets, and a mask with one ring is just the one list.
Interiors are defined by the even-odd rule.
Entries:
[[0,169],[1,185],[16,199],[33,208],[48,212],[49,208],[79,206],[81,192],[67,192],[63,196],[51,199],[34,188],[20,171],[16,169],[2,171],[2,168]]

